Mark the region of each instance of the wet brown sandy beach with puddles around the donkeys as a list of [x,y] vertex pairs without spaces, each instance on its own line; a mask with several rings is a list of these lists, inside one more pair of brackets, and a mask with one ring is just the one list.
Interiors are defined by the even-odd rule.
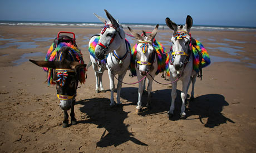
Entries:
[[[144,95],[144,108],[137,114],[138,85],[123,84],[122,106],[111,108],[107,72],[106,93],[96,94],[90,67],[86,83],[77,89],[78,124],[63,129],[56,88],[45,83],[46,72],[28,59],[44,60],[57,33],[70,31],[88,64],[88,42],[101,29],[9,25],[0,29],[0,152],[256,152],[256,32],[191,30],[212,63],[203,69],[203,79],[196,80],[195,100],[189,103],[185,120],[178,118],[181,82],[173,119],[167,116],[171,85],[155,82],[152,109],[146,109]],[[166,28],[157,33],[166,50],[172,33]],[[135,44],[134,38],[128,40]],[[155,79],[168,83],[161,75]],[[124,81],[137,78],[127,72]]]

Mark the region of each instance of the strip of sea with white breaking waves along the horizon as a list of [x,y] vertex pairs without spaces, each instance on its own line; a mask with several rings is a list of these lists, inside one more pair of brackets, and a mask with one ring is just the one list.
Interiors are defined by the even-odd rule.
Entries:
[[[20,26],[56,26],[56,27],[102,27],[101,22],[44,22],[44,21],[0,21],[0,25],[20,25]],[[123,27],[131,27],[134,29],[155,28],[153,23],[121,23]],[[159,24],[159,29],[169,29],[166,24]],[[205,31],[249,31],[256,32],[256,27],[232,27],[220,25],[193,25],[191,30]]]

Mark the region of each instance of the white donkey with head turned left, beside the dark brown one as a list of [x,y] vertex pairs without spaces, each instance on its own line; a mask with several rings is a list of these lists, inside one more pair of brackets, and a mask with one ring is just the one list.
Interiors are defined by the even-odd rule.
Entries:
[[114,101],[114,75],[118,74],[117,83],[117,104],[121,104],[120,91],[122,88],[122,80],[125,77],[126,71],[130,65],[130,48],[129,43],[125,40],[125,32],[122,26],[114,19],[109,12],[106,11],[107,18],[110,21],[106,21],[104,18],[97,16],[101,22],[105,23],[104,28],[101,30],[100,39],[95,47],[95,56],[97,59],[106,58],[106,68],[108,69],[110,79],[111,98],[110,105],[115,105]]

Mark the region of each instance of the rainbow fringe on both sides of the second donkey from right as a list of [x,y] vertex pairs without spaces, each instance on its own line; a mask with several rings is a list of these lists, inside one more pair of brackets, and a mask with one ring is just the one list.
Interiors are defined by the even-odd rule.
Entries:
[[[156,60],[157,60],[157,70],[156,70],[156,75],[161,73],[161,72],[165,72],[166,70],[168,70],[168,64],[169,64],[169,54],[164,54],[166,53],[166,50],[164,48],[164,46],[158,42],[157,40],[155,40],[155,42],[153,43],[153,46],[156,50]],[[130,63],[130,71],[131,71],[131,75],[132,76],[136,76],[136,70],[135,70],[135,65],[136,65],[136,55],[137,55],[137,44],[134,45],[134,47],[132,47],[131,49],[131,63]],[[166,73],[169,73],[169,71],[166,71]]]

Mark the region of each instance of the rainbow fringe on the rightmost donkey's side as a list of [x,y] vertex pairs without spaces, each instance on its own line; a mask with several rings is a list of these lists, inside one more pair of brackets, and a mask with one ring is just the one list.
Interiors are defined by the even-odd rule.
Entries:
[[196,73],[199,72],[199,54],[196,52],[196,49],[199,50],[202,54],[202,61],[201,61],[201,68],[207,67],[211,61],[209,54],[207,53],[206,49],[204,48],[203,44],[201,44],[198,40],[195,40],[196,46],[192,46],[192,53],[193,53],[193,69]]

